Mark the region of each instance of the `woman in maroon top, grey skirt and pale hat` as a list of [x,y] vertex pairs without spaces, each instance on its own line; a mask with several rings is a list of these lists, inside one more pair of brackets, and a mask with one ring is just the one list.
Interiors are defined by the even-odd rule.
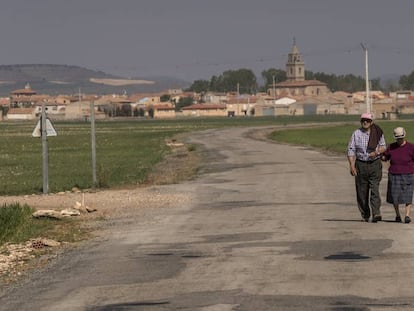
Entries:
[[396,141],[382,156],[383,161],[390,161],[387,202],[394,206],[396,222],[402,222],[399,204],[405,204],[404,222],[409,223],[414,192],[414,145],[406,140],[403,127],[394,129],[394,138]]

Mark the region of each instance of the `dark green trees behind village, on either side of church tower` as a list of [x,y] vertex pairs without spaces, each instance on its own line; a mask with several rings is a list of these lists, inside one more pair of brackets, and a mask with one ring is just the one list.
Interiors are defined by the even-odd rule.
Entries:
[[[270,68],[261,72],[263,83],[259,85],[257,78],[250,69],[227,70],[221,75],[214,75],[210,80],[195,80],[187,91],[205,92],[238,92],[255,94],[266,92],[273,83],[286,80],[286,72],[281,69]],[[327,84],[332,91],[354,93],[365,90],[365,78],[353,74],[335,75],[323,72],[305,71],[306,80],[319,80]],[[414,71],[409,75],[400,76],[398,81],[370,80],[371,90],[392,92],[396,90],[414,90]]]

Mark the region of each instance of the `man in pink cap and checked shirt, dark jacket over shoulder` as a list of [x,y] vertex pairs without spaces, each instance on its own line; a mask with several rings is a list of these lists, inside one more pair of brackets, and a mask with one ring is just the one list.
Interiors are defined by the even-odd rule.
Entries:
[[374,124],[371,113],[361,115],[361,127],[356,129],[348,143],[350,173],[355,177],[356,197],[362,219],[382,220],[379,184],[382,179],[381,153],[386,150],[382,129]]

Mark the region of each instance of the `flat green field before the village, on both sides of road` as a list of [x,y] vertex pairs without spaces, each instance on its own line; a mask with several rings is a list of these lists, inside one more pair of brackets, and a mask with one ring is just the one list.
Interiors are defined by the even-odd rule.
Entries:
[[[96,123],[97,182],[99,187],[145,183],[154,165],[168,152],[166,139],[177,134],[219,127],[269,126],[301,123],[345,122],[329,129],[278,131],[272,138],[343,151],[357,116],[301,116],[192,118],[176,120],[100,121]],[[37,121],[0,122],[0,195],[42,193],[42,142],[31,133]],[[392,128],[403,124],[408,138],[414,134],[409,121],[378,122],[388,141]],[[87,122],[54,122],[58,135],[48,138],[49,192],[93,185],[91,130]],[[328,124],[327,124],[328,126]]]

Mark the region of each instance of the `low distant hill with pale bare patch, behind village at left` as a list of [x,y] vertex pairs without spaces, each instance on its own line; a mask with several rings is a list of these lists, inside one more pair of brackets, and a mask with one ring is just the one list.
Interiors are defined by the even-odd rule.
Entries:
[[170,77],[127,79],[102,71],[69,65],[0,65],[0,96],[22,89],[29,83],[38,94],[87,94],[160,92],[186,88],[191,83]]

